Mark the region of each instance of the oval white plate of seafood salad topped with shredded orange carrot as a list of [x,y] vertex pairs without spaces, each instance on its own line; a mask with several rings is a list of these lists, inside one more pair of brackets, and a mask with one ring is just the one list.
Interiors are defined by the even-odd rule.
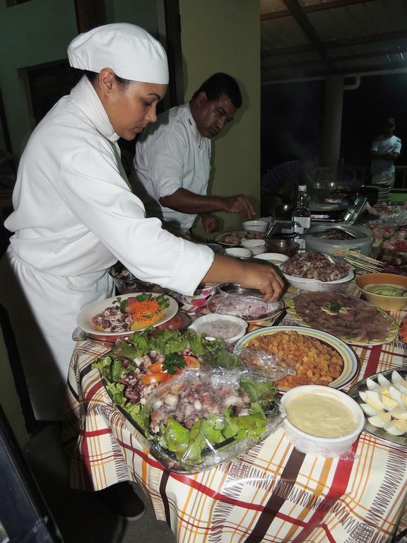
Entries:
[[159,293],[136,292],[88,305],[76,319],[90,336],[128,336],[134,330],[158,327],[177,314],[174,298]]

